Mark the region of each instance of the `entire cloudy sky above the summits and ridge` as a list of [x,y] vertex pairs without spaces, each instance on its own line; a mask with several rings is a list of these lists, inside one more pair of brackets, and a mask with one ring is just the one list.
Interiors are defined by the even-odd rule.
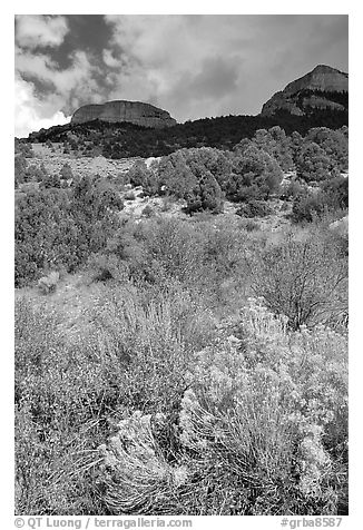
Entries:
[[16,16],[16,136],[145,101],[179,122],[256,115],[290,81],[349,67],[344,14]]

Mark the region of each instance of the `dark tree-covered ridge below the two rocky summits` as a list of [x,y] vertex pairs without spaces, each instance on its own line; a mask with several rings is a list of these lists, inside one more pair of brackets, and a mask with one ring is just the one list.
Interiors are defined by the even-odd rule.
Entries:
[[[232,149],[243,138],[252,138],[258,129],[271,129],[275,126],[282,128],[286,135],[294,131],[305,135],[313,127],[339,129],[347,126],[347,108],[314,109],[306,116],[293,116],[287,111],[279,111],[273,117],[223,116],[186,121],[166,129],[95,120],[50,127],[48,130],[32,132],[29,140],[62,143],[67,153],[76,150],[85,156],[102,154],[107,158],[149,157],[165,156],[190,147]],[[284,156],[283,151],[281,155]]]

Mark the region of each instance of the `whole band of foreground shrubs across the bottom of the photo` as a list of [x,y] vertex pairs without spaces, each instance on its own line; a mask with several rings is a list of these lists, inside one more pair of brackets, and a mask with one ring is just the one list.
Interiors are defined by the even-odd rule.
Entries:
[[344,336],[170,287],[105,291],[77,344],[19,301],[17,513],[346,513]]

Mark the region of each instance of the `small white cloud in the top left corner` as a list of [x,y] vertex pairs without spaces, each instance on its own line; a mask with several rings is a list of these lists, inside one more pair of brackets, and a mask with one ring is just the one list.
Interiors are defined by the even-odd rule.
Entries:
[[18,14],[16,22],[16,40],[27,48],[60,46],[69,31],[61,16]]

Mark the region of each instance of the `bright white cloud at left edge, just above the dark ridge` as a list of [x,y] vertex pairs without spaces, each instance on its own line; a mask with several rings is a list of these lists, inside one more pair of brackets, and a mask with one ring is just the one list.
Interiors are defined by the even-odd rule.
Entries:
[[29,132],[42,127],[67,124],[70,116],[65,116],[58,108],[57,99],[40,101],[35,95],[33,85],[16,77],[14,134],[18,138],[27,137]]

